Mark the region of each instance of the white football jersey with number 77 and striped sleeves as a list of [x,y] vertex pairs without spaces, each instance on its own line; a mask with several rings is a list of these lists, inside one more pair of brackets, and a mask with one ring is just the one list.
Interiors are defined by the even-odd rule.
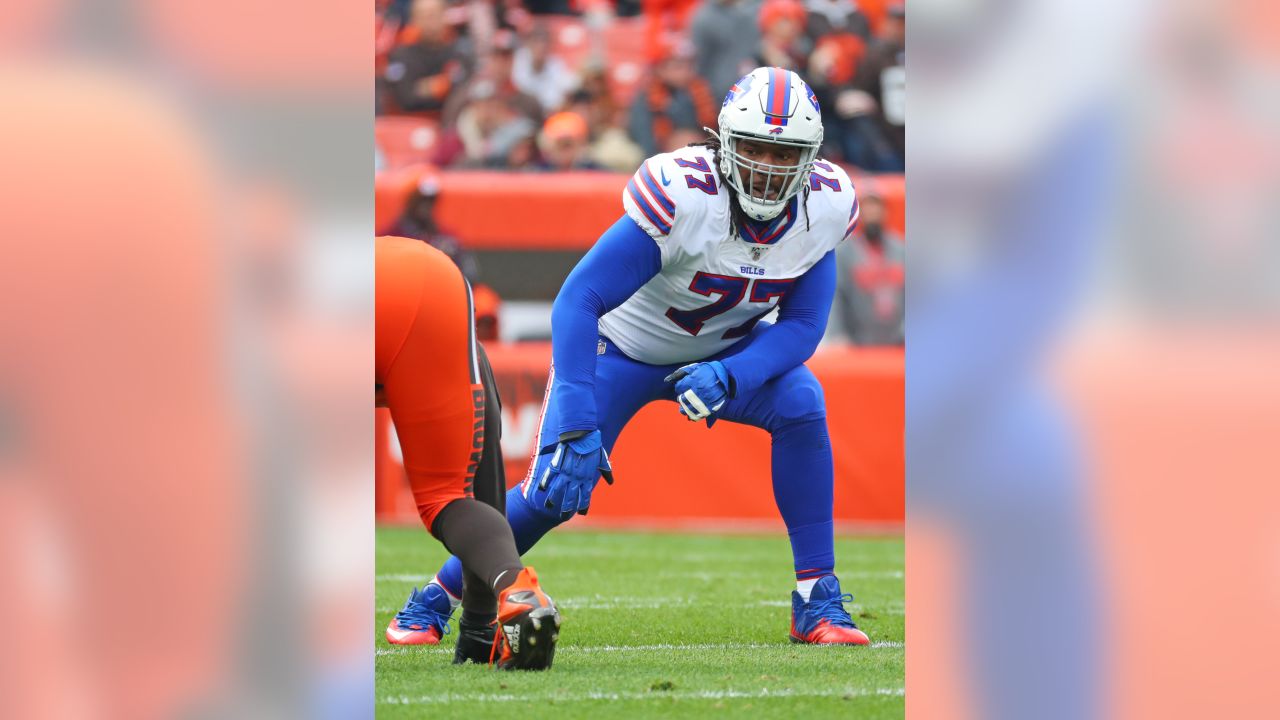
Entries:
[[703,360],[746,337],[858,222],[852,183],[838,165],[819,160],[809,187],[809,229],[800,195],[749,241],[730,236],[730,196],[710,149],[645,160],[622,205],[658,243],[662,270],[600,318],[600,334],[652,365]]

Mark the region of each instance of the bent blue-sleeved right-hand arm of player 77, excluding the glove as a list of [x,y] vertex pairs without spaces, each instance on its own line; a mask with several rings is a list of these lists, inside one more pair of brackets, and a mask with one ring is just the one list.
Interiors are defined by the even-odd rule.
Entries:
[[778,322],[722,361],[733,395],[750,392],[813,355],[827,332],[835,292],[836,254],[831,251],[796,281],[778,306]]

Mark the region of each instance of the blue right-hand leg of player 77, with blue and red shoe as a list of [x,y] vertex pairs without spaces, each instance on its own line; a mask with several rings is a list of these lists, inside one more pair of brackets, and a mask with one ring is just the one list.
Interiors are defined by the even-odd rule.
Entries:
[[773,498],[787,525],[796,571],[791,639],[867,643],[844,609],[842,598],[849,596],[835,574],[835,468],[818,378],[804,365],[794,368],[755,392],[730,400],[719,416],[772,436]]

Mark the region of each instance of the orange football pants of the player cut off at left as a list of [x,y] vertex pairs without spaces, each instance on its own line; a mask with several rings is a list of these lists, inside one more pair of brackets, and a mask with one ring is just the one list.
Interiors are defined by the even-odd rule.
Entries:
[[376,383],[399,437],[428,530],[471,497],[484,450],[484,388],[471,290],[452,260],[417,240],[374,241]]

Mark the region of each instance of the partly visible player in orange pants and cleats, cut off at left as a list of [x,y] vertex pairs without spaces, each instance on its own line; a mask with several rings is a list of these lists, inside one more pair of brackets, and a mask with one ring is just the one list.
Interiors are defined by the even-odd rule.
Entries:
[[[500,505],[475,497],[500,501],[506,482],[497,392],[475,341],[471,288],[443,252],[402,237],[376,238],[375,283],[378,401],[396,423],[422,523],[461,559],[465,606],[453,661],[550,667],[556,603],[520,562]],[[419,594],[415,588],[410,607]],[[428,624],[416,625],[401,614],[387,639],[424,637]]]

